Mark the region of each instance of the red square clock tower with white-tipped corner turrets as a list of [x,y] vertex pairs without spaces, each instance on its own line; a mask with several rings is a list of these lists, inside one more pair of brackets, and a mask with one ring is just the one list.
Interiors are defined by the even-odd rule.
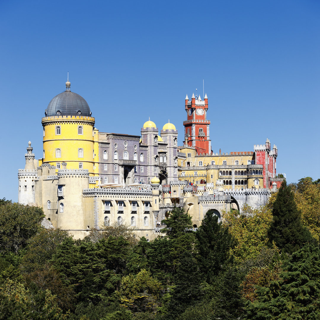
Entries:
[[198,154],[211,154],[211,140],[209,136],[210,120],[207,120],[208,97],[204,100],[192,94],[191,101],[186,96],[185,109],[187,120],[183,121],[185,146],[196,148]]

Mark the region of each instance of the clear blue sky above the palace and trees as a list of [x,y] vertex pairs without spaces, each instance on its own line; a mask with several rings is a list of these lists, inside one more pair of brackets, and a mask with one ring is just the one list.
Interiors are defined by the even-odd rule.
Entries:
[[317,0],[1,1],[0,32],[0,198],[18,199],[28,140],[42,157],[41,117],[68,71],[100,131],[170,118],[179,145],[204,79],[214,152],[268,137],[288,182],[320,178]]

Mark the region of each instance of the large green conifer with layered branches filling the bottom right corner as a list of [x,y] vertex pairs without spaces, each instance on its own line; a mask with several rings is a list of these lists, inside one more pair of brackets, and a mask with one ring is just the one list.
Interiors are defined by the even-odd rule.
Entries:
[[284,263],[280,280],[257,290],[258,299],[246,304],[250,320],[320,319],[320,250],[306,244]]

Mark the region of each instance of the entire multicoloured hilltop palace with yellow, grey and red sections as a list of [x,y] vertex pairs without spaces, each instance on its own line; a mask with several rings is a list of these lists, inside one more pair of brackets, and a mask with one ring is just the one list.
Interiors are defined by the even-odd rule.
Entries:
[[42,207],[53,227],[75,238],[117,222],[148,240],[159,235],[174,206],[197,228],[209,209],[222,219],[245,203],[266,204],[285,178],[276,172],[276,145],[267,139],[252,151],[213,152],[207,95],[186,96],[184,108],[181,146],[169,121],[160,132],[151,119],[140,135],[100,132],[88,103],[67,81],[41,119],[41,159],[28,143],[18,172],[19,203]]

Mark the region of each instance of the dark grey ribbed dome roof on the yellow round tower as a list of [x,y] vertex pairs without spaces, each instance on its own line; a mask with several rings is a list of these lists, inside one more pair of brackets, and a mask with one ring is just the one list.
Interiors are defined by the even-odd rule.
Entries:
[[[79,111],[81,113],[79,113]],[[45,110],[45,116],[91,116],[89,105],[75,92],[66,90],[56,95]]]

